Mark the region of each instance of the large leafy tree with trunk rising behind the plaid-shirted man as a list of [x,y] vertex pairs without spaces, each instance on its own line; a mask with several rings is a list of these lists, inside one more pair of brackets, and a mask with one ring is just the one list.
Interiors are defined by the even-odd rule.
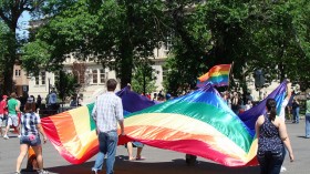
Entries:
[[123,88],[131,83],[135,60],[152,57],[157,47],[161,4],[138,0],[76,1],[38,31],[35,38],[52,48],[50,64],[41,64],[56,69],[68,53],[79,60],[94,55],[97,63],[116,70]]

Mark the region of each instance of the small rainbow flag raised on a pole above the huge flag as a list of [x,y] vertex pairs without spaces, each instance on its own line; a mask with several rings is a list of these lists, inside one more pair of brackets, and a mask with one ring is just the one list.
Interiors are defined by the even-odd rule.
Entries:
[[209,72],[198,78],[197,86],[202,88],[207,83],[217,86],[228,85],[230,69],[231,64],[218,64],[213,66]]

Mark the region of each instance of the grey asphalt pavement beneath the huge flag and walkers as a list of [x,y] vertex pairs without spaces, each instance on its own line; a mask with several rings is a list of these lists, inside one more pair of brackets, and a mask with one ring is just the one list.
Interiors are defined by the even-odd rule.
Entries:
[[[304,120],[301,120],[299,124],[287,123],[287,126],[296,161],[290,163],[289,157],[286,157],[285,166],[287,167],[287,172],[285,174],[309,174],[310,140],[304,139]],[[0,174],[14,172],[18,154],[18,137],[12,135],[10,140],[0,139]],[[72,165],[63,160],[50,143],[43,146],[43,154],[45,170],[55,174],[91,174],[90,168],[94,164],[93,157],[84,164]],[[143,156],[146,157],[145,161],[130,162],[126,155],[126,149],[118,146],[115,174],[259,174],[259,167],[257,166],[231,168],[215,164],[202,157],[198,157],[199,164],[187,166],[185,164],[185,154],[151,146],[145,146],[143,151]],[[23,162],[23,167],[25,167],[25,163],[27,160]]]

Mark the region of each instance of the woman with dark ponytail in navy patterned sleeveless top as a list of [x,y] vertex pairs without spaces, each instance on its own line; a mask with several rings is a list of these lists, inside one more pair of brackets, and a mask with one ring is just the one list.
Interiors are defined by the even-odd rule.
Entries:
[[257,160],[260,164],[260,174],[279,174],[287,147],[290,161],[293,153],[287,133],[286,124],[277,116],[277,102],[268,99],[266,102],[267,113],[260,115],[256,122],[256,134],[258,139]]

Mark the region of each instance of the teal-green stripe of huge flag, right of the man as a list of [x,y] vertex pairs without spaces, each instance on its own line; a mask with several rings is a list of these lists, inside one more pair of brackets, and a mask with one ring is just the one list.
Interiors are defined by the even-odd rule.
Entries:
[[140,112],[135,112],[127,115],[126,117],[144,113],[177,113],[199,120],[214,126],[216,130],[225,134],[228,139],[239,145],[245,152],[249,151],[252,142],[252,137],[239,119],[234,117],[229,114],[229,112],[225,112],[224,110],[207,103],[169,101],[147,108]]

